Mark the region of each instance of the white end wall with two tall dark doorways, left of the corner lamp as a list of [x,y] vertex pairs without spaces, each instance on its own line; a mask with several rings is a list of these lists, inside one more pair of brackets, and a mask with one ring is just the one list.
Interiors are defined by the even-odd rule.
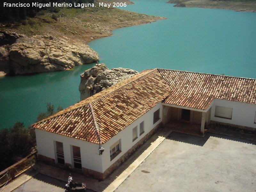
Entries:
[[80,147],[82,167],[102,172],[102,159],[99,155],[99,145],[36,129],[38,154],[55,159],[56,162],[54,141],[63,143],[65,163],[72,164],[72,146],[74,145]]

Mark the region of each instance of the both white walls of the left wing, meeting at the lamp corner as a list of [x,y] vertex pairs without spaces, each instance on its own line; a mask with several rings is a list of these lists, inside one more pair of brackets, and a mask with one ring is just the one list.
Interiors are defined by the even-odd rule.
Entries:
[[[153,124],[153,114],[160,109],[160,119]],[[36,143],[38,154],[50,157],[56,161],[55,141],[63,143],[65,163],[72,164],[72,146],[80,147],[82,167],[91,169],[97,172],[104,172],[110,165],[116,162],[124,153],[126,153],[133,145],[142,139],[148,132],[156,127],[162,121],[162,103],[158,103],[154,108],[149,110],[146,114],[135,120],[132,124],[127,126],[124,130],[119,132],[116,136],[108,140],[105,144],[101,145],[105,150],[102,155],[99,155],[99,145],[61,136],[56,133],[51,133],[43,130],[36,129]],[[144,121],[144,133],[140,135],[140,123]],[[138,126],[138,138],[132,142],[132,129]],[[118,154],[112,161],[110,161],[110,146],[116,141],[121,140],[121,153]]]

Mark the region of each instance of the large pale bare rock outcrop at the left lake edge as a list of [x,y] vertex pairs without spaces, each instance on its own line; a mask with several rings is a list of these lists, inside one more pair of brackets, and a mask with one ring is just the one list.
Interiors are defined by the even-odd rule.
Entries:
[[[15,37],[14,43],[0,47],[0,71],[6,74],[63,71],[99,61],[98,54],[86,44],[69,44],[50,35]],[[8,42],[8,36],[0,31],[1,40]]]

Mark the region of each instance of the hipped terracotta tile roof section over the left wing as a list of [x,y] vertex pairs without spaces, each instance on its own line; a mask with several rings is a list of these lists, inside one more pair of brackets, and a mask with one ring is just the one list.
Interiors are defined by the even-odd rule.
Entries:
[[32,126],[92,143],[107,142],[170,94],[157,69],[145,70]]

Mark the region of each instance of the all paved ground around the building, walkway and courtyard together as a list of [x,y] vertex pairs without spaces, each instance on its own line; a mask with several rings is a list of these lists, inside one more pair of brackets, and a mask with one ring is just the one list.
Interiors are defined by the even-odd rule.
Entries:
[[[183,124],[184,129],[185,127]],[[166,126],[156,132],[106,180],[98,181],[72,173],[74,179],[78,182],[85,181],[87,188],[93,191],[114,191],[117,187],[117,191],[140,191],[146,190],[148,186],[150,191],[153,188],[156,191],[256,189],[256,141],[212,133],[199,137],[172,132],[170,128]],[[225,134],[234,133],[226,131]],[[246,137],[245,134],[242,136]],[[255,135],[248,137],[256,140]],[[39,163],[2,191],[13,191],[28,180],[32,182],[37,177],[44,178],[42,174],[48,176],[48,180],[56,178],[62,181],[63,185],[69,171]],[[141,176],[144,178],[142,183],[138,182],[141,181]],[[42,181],[47,191],[52,183],[47,179]],[[38,191],[43,191],[43,188]]]

